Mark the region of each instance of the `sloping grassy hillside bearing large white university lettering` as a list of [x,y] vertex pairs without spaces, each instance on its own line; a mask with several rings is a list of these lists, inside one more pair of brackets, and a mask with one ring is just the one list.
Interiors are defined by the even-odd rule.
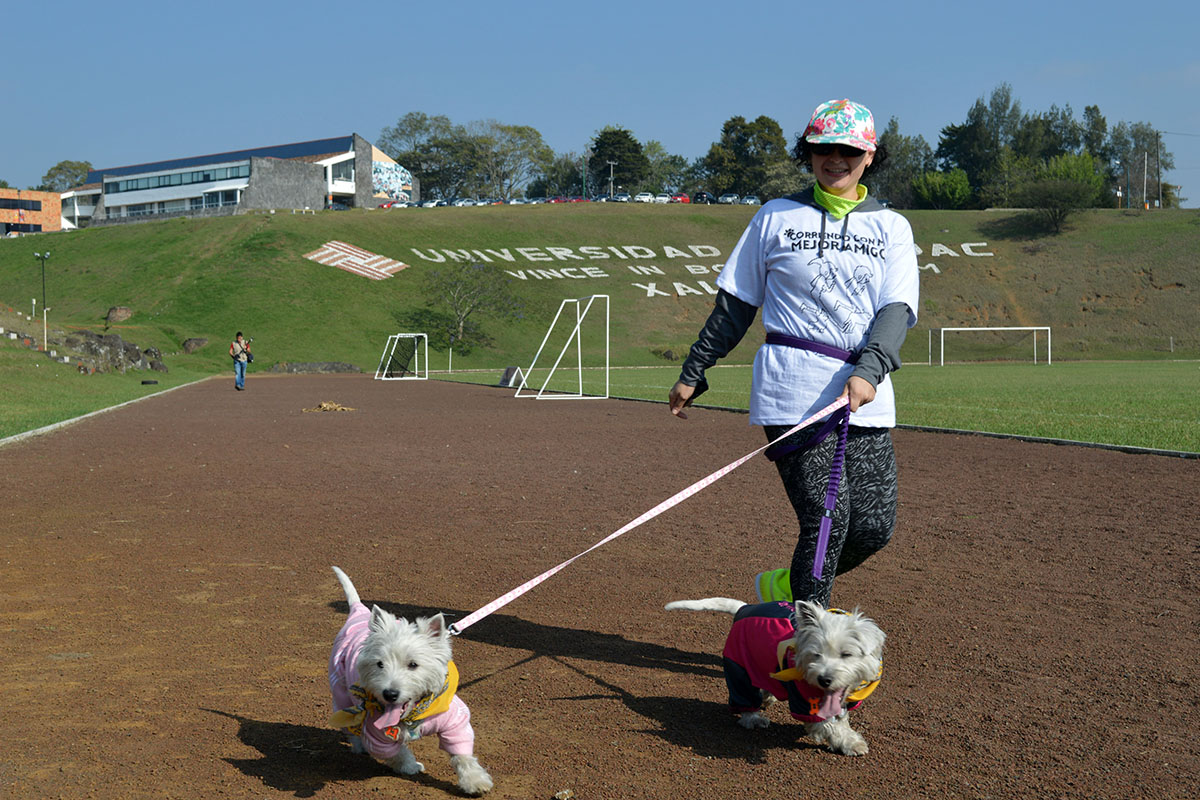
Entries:
[[[96,228],[0,241],[0,303],[25,313],[31,297],[41,305],[34,251],[48,248],[52,326],[100,331],[107,309],[122,305],[134,314],[115,332],[161,349],[173,369],[226,369],[227,343],[236,330],[254,337],[256,368],[276,361],[348,361],[373,369],[386,336],[398,330],[394,314],[424,305],[422,273],[434,259],[450,258],[445,251],[456,251],[506,270],[526,309],[512,324],[481,320],[493,345],[455,353],[456,369],[527,363],[560,300],[595,293],[612,295],[613,363],[662,365],[664,350],[685,353],[694,339],[712,303],[712,267],[728,254],[752,212],[744,206],[492,206],[254,213]],[[907,360],[925,360],[928,329],[966,325],[1052,325],[1056,360],[1170,357],[1172,338],[1174,357],[1200,356],[1195,211],[1096,210],[1072,217],[1058,236],[1036,235],[1014,212],[905,216],[925,267],[922,318],[906,345]],[[371,281],[304,258],[330,240],[412,266]],[[180,343],[188,337],[206,337],[210,344],[184,355]],[[751,357],[761,341],[754,338],[734,361]],[[1026,351],[1025,344],[1018,347]],[[431,366],[442,368],[444,359],[431,354]]]

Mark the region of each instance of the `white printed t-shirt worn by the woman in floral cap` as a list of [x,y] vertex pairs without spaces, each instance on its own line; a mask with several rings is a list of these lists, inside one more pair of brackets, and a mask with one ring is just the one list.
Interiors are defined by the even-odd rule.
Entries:
[[[920,281],[912,228],[875,204],[834,219],[816,205],[770,200],[742,234],[716,284],[761,307],[767,331],[844,350],[866,344],[883,306],[902,302],[908,326],[917,323]],[[827,355],[763,344],[755,356],[750,423],[796,425],[836,399],[853,371]],[[889,377],[850,421],[895,426]]]

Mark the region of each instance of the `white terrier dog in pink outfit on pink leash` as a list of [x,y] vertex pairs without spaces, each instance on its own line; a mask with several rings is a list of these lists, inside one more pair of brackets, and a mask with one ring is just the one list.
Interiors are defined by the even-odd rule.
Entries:
[[336,566],[334,572],[350,613],[329,656],[330,723],[346,729],[354,752],[367,752],[403,775],[425,771],[408,742],[436,733],[450,753],[458,787],[467,794],[491,789],[492,776],[473,754],[470,710],[455,694],[458,669],[442,614],[409,622],[378,606],[368,612],[346,573]]

